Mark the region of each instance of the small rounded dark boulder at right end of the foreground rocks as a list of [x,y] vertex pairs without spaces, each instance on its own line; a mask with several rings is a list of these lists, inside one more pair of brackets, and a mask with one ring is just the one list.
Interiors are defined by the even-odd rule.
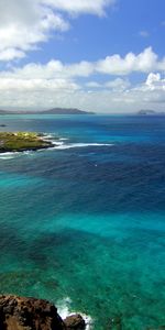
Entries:
[[67,330],[81,330],[86,328],[85,320],[79,314],[72,315],[64,320]]

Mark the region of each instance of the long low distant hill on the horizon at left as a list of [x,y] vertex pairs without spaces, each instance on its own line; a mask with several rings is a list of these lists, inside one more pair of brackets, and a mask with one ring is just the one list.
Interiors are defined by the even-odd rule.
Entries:
[[76,108],[53,108],[42,111],[8,111],[0,110],[0,114],[95,114],[95,112],[84,111]]

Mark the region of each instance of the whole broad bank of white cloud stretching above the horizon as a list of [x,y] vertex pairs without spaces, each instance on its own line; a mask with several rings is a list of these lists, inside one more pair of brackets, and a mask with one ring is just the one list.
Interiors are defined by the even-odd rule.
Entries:
[[[9,109],[14,105],[18,109],[36,110],[50,107],[79,107],[102,112],[131,112],[141,108],[163,110],[165,78],[161,76],[160,67],[163,68],[164,58],[158,59],[147,48],[138,55],[132,54],[134,66],[128,67],[129,56],[122,58],[118,55],[121,62],[119,67],[113,67],[112,73],[118,76],[113,79],[105,75],[105,67],[100,69],[103,59],[75,64],[54,59],[45,65],[31,63],[22,68],[12,67],[0,72],[0,108]],[[148,58],[150,64],[146,63]],[[140,73],[146,72],[146,79],[132,87],[128,77],[123,78],[123,73],[127,75],[138,69]],[[111,75],[109,67],[107,72]]]

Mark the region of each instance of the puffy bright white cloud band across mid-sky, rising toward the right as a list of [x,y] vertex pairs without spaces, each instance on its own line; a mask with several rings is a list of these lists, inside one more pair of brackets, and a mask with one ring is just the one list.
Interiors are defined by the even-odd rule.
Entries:
[[[22,55],[20,53],[20,56]],[[31,79],[31,77],[90,77],[95,74],[128,76],[132,73],[147,74],[164,69],[165,59],[160,61],[158,56],[148,47],[138,55],[128,53],[124,57],[121,57],[119,54],[116,54],[97,62],[82,61],[74,64],[64,64],[61,61],[52,59],[45,65],[30,63],[23,68],[13,68],[11,72],[0,73],[0,76],[20,76],[28,79]],[[116,80],[116,84],[121,84],[121,80]]]

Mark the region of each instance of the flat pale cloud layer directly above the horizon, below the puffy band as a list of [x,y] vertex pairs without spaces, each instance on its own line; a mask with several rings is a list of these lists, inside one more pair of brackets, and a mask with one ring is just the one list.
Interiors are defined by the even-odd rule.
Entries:
[[[165,92],[130,88],[127,90],[90,90],[87,92],[74,81],[19,80],[6,81],[0,89],[1,109],[41,110],[53,107],[79,108],[96,112],[135,112],[140,109],[164,110]],[[1,81],[0,81],[1,84]],[[51,84],[48,86],[48,84]],[[1,85],[2,86],[2,85]]]

